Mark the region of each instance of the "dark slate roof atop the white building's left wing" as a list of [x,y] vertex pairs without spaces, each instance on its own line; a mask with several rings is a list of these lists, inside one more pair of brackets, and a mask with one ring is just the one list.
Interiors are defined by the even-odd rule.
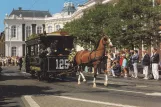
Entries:
[[49,11],[40,11],[40,10],[22,10],[19,8],[18,10],[14,10],[11,12],[10,16],[16,15],[22,17],[52,17]]

